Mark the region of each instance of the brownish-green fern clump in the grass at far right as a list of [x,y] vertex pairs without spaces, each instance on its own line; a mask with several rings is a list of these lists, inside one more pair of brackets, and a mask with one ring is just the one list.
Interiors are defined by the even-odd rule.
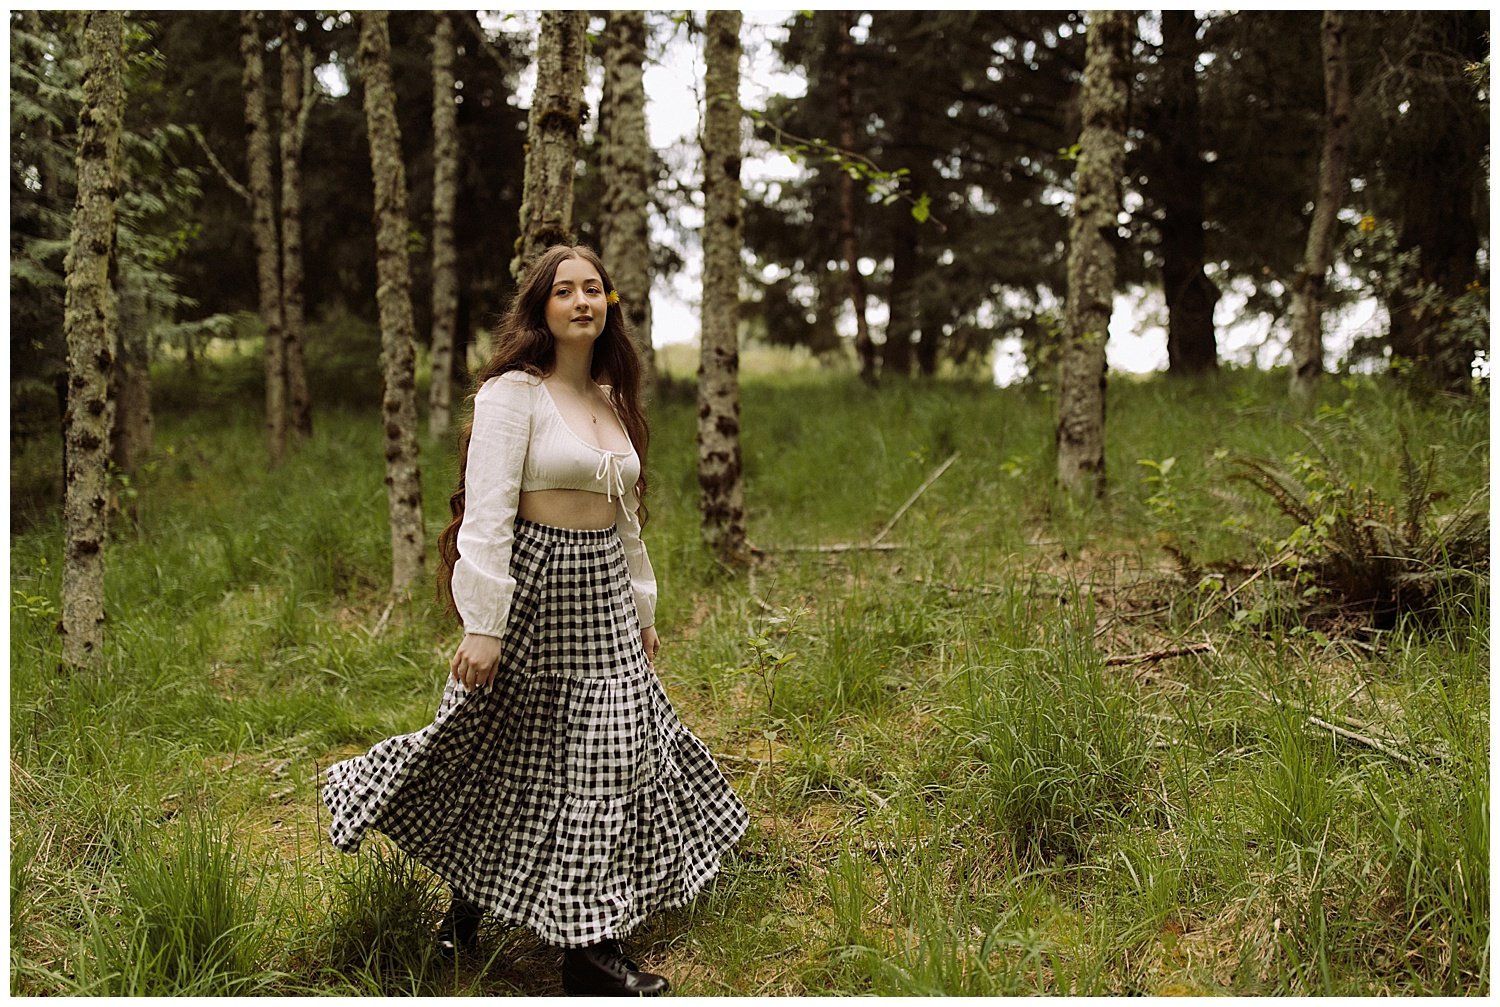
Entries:
[[1286,464],[1234,459],[1232,476],[1251,485],[1294,524],[1276,552],[1296,557],[1296,576],[1341,611],[1365,612],[1384,627],[1401,615],[1431,615],[1444,597],[1486,579],[1488,492],[1438,513],[1436,456],[1418,462],[1401,438],[1401,497],[1382,498],[1350,479],[1311,435],[1312,453]]

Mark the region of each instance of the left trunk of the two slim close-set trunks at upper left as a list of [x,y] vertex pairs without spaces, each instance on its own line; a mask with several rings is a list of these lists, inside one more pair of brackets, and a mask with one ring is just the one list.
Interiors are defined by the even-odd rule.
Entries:
[[282,336],[280,270],[278,269],[276,209],[272,201],[272,140],[266,125],[266,66],[260,15],[240,12],[240,59],[244,60],[246,162],[250,170],[250,228],[255,233],[255,276],[266,326],[266,452],[272,468],[286,453],[286,344]]

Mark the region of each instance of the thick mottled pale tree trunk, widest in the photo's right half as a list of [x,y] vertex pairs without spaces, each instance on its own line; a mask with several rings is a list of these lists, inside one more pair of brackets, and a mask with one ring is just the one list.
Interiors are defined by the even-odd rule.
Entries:
[[1076,497],[1104,494],[1104,345],[1114,300],[1132,33],[1130,14],[1089,12],[1058,389],[1058,482]]

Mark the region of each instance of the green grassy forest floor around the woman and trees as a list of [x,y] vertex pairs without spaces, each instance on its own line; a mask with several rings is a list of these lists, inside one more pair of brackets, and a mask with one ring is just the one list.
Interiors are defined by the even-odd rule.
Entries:
[[[1488,401],[1335,378],[1299,429],[1280,375],[1114,381],[1110,492],[1074,506],[1048,396],[750,375],[736,578],[698,545],[680,396],[658,669],[754,822],[627,941],[675,992],[1490,992],[1488,578],[1371,626],[1292,558],[1350,501],[1401,512],[1402,443],[1442,527],[1488,485]],[[12,455],[12,992],[560,992],[522,930],[430,959],[441,885],[324,836],[320,767],[426,723],[459,638],[428,596],[387,617],[375,413],[267,474],[254,395],[214,401],[122,488],[99,674],[58,672],[56,444]],[[954,455],[898,548],[790,548],[870,540]],[[453,465],[424,446],[434,536]]]

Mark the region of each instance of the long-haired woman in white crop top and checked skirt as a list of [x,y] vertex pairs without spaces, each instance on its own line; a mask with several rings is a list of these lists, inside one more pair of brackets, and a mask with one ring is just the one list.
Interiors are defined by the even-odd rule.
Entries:
[[588,248],[531,266],[438,540],[465,632],[436,717],[322,789],[338,848],[376,828],[452,885],[444,953],[472,950],[488,911],[564,948],[574,995],[664,992],[620,938],[692,899],[748,821],[654,674],[646,423],[618,302]]

